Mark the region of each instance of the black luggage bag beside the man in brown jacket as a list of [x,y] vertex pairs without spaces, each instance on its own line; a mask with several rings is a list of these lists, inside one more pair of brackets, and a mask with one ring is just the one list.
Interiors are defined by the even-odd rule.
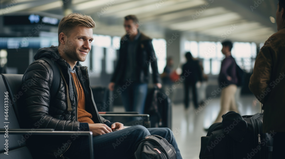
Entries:
[[262,133],[263,114],[227,112],[201,137],[200,159],[270,159],[274,132]]

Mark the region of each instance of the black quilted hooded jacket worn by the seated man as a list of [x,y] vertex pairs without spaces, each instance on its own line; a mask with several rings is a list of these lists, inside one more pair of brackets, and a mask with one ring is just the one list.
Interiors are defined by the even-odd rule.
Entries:
[[[72,105],[71,112],[67,110],[66,85],[62,77],[60,78],[60,86],[55,99],[50,99],[52,80],[59,77],[53,76],[50,64],[40,59],[42,57],[51,58],[60,66],[67,85],[69,85],[69,96]],[[23,104],[28,124],[26,127],[51,128],[56,131],[79,131],[77,95],[68,63],[60,58],[58,47],[54,46],[40,49],[34,56],[34,59],[36,61],[28,66],[22,80],[22,87],[25,86],[28,88],[23,94]],[[98,114],[89,84],[87,67],[79,66],[79,63],[77,63],[75,68],[78,80],[85,93],[86,111],[92,114],[94,123],[109,125],[110,122]]]

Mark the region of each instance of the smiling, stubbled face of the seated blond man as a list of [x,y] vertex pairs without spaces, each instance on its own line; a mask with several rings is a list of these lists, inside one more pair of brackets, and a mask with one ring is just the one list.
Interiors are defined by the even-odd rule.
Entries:
[[92,28],[77,26],[70,30],[69,34],[68,36],[65,35],[64,60],[72,64],[76,64],[77,61],[85,61],[93,41]]

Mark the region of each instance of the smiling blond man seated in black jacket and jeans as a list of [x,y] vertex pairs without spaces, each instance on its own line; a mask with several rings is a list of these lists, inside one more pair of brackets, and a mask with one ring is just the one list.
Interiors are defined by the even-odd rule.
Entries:
[[[139,141],[148,135],[159,135],[174,146],[177,158],[181,159],[170,129],[146,129],[141,125],[124,128],[121,123],[110,123],[99,116],[92,98],[87,67],[80,66],[78,62],[86,60],[91,49],[94,27],[95,22],[90,16],[68,14],[62,18],[58,26],[58,47],[42,48],[36,53],[34,56],[36,61],[28,66],[22,81],[23,86],[29,86],[23,94],[27,127],[52,128],[56,131],[92,131],[94,156],[99,159],[133,158],[135,145]],[[51,64],[40,59],[43,57],[52,59],[60,68],[64,78],[54,76]],[[60,85],[58,92],[51,99],[50,90],[55,78],[60,78]],[[113,131],[114,129],[119,131]],[[53,154],[55,158],[59,156],[86,158],[84,155],[88,155],[88,143],[75,138],[71,143],[62,137],[58,138],[62,147],[56,143],[48,143],[46,137],[42,138],[45,143],[58,146],[55,149],[44,147],[46,144],[42,141],[33,140],[33,142],[42,143],[35,149],[38,148],[39,151],[48,149],[44,152]],[[68,146],[63,146],[67,145],[65,143],[68,143]],[[40,158],[45,156],[39,155]]]

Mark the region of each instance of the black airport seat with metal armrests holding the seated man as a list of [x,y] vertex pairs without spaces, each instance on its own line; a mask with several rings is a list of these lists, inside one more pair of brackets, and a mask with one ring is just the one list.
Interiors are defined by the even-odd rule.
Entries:
[[[31,135],[67,135],[74,131],[54,131],[54,129],[23,129],[20,127],[23,113],[22,106],[18,103],[25,88],[22,87],[23,74],[0,74],[0,101],[3,104],[0,109],[0,139],[5,141],[0,145],[0,158],[5,159],[33,159],[25,141]],[[8,93],[6,93],[8,92]],[[5,102],[8,101],[8,102]],[[102,116],[142,116],[146,118],[143,123],[149,127],[148,114],[128,114],[126,112],[116,114],[103,113]],[[78,134],[77,134],[78,135]],[[79,136],[86,136],[89,140],[90,159],[93,159],[93,136],[91,131],[81,131]],[[8,154],[8,155],[7,155]]]

